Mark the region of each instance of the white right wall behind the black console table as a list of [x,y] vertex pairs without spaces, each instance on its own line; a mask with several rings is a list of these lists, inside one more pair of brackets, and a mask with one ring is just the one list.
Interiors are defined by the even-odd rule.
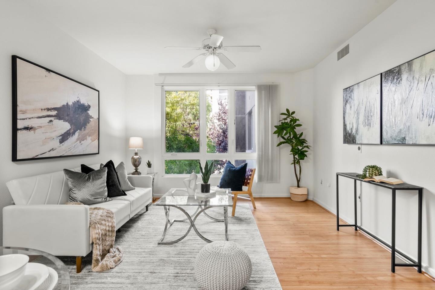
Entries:
[[[337,171],[361,172],[365,165],[377,164],[389,177],[425,188],[422,262],[424,270],[435,276],[435,147],[362,145],[359,154],[357,145],[342,144],[342,90],[435,49],[433,11],[432,0],[398,0],[346,42],[350,44],[347,56],[337,62],[340,46],[315,67],[313,149],[314,200],[333,212]],[[328,182],[330,188],[325,186]],[[353,223],[353,182],[341,178],[340,192],[340,217]],[[358,204],[361,225],[391,242],[391,191],[358,185],[359,192],[362,192]],[[415,259],[417,201],[416,193],[398,192],[396,246]],[[397,271],[400,273],[400,268]]]

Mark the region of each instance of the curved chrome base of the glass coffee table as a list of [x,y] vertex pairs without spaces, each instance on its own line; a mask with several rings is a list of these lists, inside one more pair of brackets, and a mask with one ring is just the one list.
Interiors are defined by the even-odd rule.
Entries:
[[[171,207],[173,208],[177,208],[179,209],[182,213],[184,213],[186,215],[186,217],[184,219],[174,219],[174,220],[170,220],[169,219],[169,213],[171,210]],[[209,208],[213,208],[212,206],[207,206],[204,205],[204,208],[202,205],[198,205],[196,211],[192,214],[189,215],[187,213],[187,211],[184,210],[184,208],[181,208],[177,205],[164,205],[164,212],[165,212],[165,216],[166,216],[166,223],[164,226],[164,230],[163,230],[163,234],[162,237],[160,238],[160,240],[158,241],[157,244],[159,245],[170,245],[170,244],[175,244],[178,243],[179,241],[183,240],[185,237],[187,237],[187,234],[189,234],[189,232],[191,231],[191,229],[193,228],[195,233],[198,235],[198,237],[200,237],[201,239],[203,239],[204,241],[206,241],[207,243],[211,243],[212,241],[207,239],[206,237],[204,237],[195,227],[195,221],[196,219],[199,217],[199,215],[202,213],[204,214],[206,217],[208,217],[209,219],[211,219],[212,221],[223,221],[225,224],[225,241],[228,241],[228,206],[224,206],[224,218],[223,219],[218,219],[218,218],[214,218],[211,217],[210,215],[208,215],[205,211]],[[163,241],[164,240],[164,236],[166,235],[166,230],[168,228],[168,224],[169,227],[171,227],[172,224],[174,224],[174,222],[176,221],[190,221],[190,227],[187,230],[186,234],[184,234],[182,237],[178,238],[177,240],[174,241]]]

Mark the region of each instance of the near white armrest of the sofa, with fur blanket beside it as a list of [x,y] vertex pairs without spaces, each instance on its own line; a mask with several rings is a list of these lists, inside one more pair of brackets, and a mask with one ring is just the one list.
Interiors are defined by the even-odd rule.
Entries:
[[3,246],[43,250],[55,256],[90,252],[89,206],[10,205],[3,208]]

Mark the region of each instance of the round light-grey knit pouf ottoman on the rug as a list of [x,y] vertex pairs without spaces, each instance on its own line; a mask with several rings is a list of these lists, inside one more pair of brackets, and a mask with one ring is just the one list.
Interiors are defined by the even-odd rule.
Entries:
[[251,259],[234,242],[207,244],[195,262],[195,278],[204,290],[241,290],[251,273]]

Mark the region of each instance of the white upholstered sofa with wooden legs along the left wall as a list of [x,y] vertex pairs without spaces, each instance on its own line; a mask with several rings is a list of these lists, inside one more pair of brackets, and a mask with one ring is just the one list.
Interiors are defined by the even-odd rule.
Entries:
[[[99,165],[92,165],[98,169]],[[73,169],[80,171],[80,168]],[[14,205],[3,208],[3,246],[28,247],[55,256],[76,256],[77,273],[81,257],[92,251],[89,207],[108,208],[115,214],[116,229],[152,201],[152,178],[128,175],[135,187],[100,204],[66,205],[69,196],[64,171],[14,179],[7,188]]]

